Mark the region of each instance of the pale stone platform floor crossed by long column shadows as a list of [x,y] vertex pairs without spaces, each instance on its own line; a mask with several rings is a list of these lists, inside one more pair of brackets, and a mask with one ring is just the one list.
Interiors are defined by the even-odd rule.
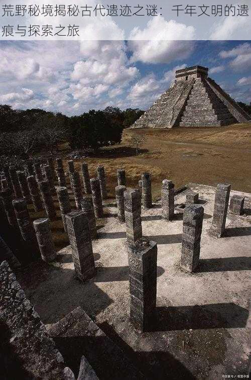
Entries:
[[[182,211],[191,190],[199,193],[205,210],[200,264],[194,274],[180,269]],[[76,279],[68,246],[50,265],[36,262],[20,269],[18,281],[48,328],[80,306],[145,378],[247,374],[251,194],[231,191],[230,197],[245,196],[248,210],[241,216],[228,213],[222,238],[208,234],[214,194],[214,187],[189,184],[175,197],[173,221],[161,218],[160,202],[142,210],[143,235],[158,243],[157,313],[151,332],[140,333],[129,320],[126,228],[117,221],[114,201],[106,201],[103,227],[92,242],[97,268],[92,280]],[[57,348],[61,351],[60,340]],[[76,354],[74,350],[78,353],[77,339],[68,354]]]

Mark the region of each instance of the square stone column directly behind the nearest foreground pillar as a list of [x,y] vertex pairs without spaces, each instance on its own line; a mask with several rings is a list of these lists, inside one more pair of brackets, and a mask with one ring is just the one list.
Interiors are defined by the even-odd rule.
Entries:
[[127,227],[127,241],[136,244],[142,240],[140,189],[124,191],[124,215]]

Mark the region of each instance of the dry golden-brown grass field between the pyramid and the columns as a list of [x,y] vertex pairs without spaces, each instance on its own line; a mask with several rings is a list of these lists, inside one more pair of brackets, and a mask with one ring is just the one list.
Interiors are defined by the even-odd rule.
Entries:
[[[138,156],[130,145],[130,137],[135,133],[147,138]],[[142,172],[149,171],[154,198],[160,196],[165,178],[176,187],[188,182],[212,186],[227,182],[234,190],[251,192],[251,123],[210,129],[127,129],[121,144],[76,160],[77,169],[81,161],[88,163],[91,176],[96,176],[98,164],[104,165],[110,196],[114,195],[117,168],[126,170],[130,187],[137,186]]]

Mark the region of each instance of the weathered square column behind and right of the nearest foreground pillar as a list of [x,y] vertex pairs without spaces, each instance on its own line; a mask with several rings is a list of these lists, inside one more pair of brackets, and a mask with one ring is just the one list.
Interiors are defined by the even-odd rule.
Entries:
[[187,205],[184,209],[181,248],[181,268],[194,272],[200,258],[200,236],[204,208],[198,204]]

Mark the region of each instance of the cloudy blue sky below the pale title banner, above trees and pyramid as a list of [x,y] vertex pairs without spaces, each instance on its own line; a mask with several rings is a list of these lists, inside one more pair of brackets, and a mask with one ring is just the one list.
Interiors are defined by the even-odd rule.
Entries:
[[0,57],[0,103],[14,108],[146,109],[176,69],[197,64],[235,100],[251,101],[250,41],[1,41]]

